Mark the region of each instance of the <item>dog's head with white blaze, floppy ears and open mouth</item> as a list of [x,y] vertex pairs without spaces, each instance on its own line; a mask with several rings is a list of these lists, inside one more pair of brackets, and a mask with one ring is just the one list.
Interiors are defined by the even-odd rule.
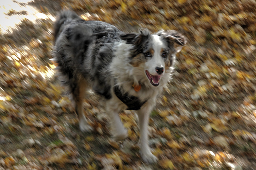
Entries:
[[124,33],[120,37],[133,45],[130,64],[140,67],[152,86],[158,86],[161,77],[172,69],[176,53],[182,49],[175,48],[174,43],[183,46],[187,42],[184,35],[174,30],[152,35],[142,29],[140,33]]

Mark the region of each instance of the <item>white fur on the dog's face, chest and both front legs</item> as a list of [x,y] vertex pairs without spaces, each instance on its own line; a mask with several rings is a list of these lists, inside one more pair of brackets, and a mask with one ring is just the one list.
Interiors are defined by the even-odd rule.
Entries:
[[[122,86],[124,91],[132,96],[137,96],[141,101],[147,100],[140,110],[137,111],[140,126],[140,154],[145,162],[156,162],[157,158],[154,156],[148,145],[148,120],[152,108],[156,105],[156,97],[162,92],[164,86],[171,78],[171,72],[173,70],[170,67],[168,70],[164,70],[162,73],[159,86],[153,86],[150,84],[145,70],[148,70],[150,74],[157,75],[155,68],[157,66],[164,67],[164,60],[160,55],[160,51],[164,48],[164,44],[160,41],[158,35],[152,35],[153,37],[153,49],[154,55],[152,59],[146,63],[140,64],[138,67],[133,67],[130,63],[130,49],[132,45],[126,44],[125,41],[117,42],[114,46],[114,57],[110,64],[110,70],[112,76],[119,86]],[[142,84],[141,90],[135,92],[132,84]],[[112,92],[112,99],[106,103],[106,111],[110,116],[110,123],[112,127],[112,134],[116,140],[124,139],[127,137],[127,130],[124,128],[118,112],[121,109],[126,109],[127,106],[123,104]]]

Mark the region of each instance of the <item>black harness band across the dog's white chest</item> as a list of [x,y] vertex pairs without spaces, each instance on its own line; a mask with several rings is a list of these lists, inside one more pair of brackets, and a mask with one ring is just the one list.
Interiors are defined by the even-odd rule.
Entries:
[[136,96],[128,96],[128,93],[123,94],[119,86],[114,87],[114,92],[116,97],[118,97],[118,99],[128,107],[126,110],[139,110],[140,107],[147,101],[141,102]]

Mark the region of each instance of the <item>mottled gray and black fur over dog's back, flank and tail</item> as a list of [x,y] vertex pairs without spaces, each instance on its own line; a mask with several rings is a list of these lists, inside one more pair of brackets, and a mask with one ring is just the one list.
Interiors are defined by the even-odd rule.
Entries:
[[70,92],[82,78],[94,91],[111,98],[108,66],[122,31],[101,21],[84,21],[70,11],[60,14],[55,31],[60,32],[55,33],[54,56]]

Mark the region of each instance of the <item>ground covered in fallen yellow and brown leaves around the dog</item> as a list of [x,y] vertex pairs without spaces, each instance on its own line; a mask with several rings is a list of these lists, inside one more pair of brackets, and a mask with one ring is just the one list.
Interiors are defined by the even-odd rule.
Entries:
[[[94,131],[79,130],[50,61],[61,9],[126,32],[175,29],[188,38],[150,119],[158,163],[139,156],[133,112],[120,114],[128,139],[111,140],[98,96],[84,101]],[[256,169],[254,0],[10,0],[0,12],[0,170]]]

